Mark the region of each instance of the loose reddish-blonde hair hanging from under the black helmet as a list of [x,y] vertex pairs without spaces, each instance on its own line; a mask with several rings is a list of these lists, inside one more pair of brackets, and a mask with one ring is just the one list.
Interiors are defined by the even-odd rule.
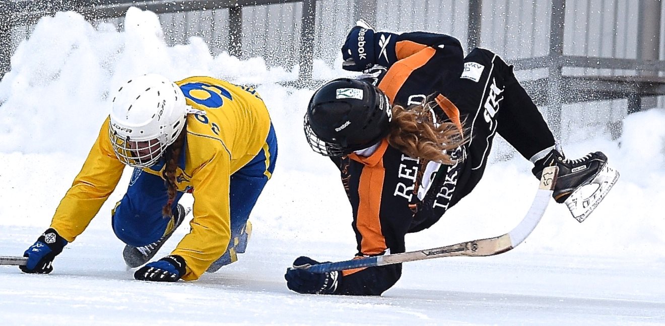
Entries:
[[388,143],[408,156],[442,164],[454,164],[448,150],[467,142],[464,133],[454,122],[434,123],[432,107],[436,102],[404,108],[392,107]]

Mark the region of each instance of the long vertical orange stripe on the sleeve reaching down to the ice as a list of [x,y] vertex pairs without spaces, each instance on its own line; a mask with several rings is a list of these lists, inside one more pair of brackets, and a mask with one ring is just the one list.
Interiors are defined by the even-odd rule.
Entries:
[[[387,144],[387,142],[386,142]],[[383,145],[383,144],[382,144]],[[371,157],[371,156],[370,156]],[[364,166],[358,182],[358,216],[356,228],[360,232],[360,252],[376,255],[386,250],[386,238],[381,233],[381,194],[386,170],[383,160],[374,166]]]

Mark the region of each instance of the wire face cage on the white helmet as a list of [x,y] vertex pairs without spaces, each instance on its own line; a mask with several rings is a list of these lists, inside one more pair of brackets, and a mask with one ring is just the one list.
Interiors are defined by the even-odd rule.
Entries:
[[160,138],[150,140],[122,138],[111,126],[108,127],[108,137],[118,160],[133,168],[147,168],[154,165],[162,157],[167,146]]

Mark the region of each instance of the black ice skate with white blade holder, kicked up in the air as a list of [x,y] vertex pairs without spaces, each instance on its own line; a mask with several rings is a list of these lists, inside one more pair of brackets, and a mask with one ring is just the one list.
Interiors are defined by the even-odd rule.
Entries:
[[607,157],[602,152],[568,160],[553,149],[535,163],[532,172],[540,178],[543,168],[552,165],[559,166],[552,196],[557,203],[565,203],[579,222],[583,222],[593,212],[619,177],[618,172],[608,166]]

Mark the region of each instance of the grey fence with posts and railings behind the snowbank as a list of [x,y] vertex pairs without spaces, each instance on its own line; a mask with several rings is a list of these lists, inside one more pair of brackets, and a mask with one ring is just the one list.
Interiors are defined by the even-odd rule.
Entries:
[[[599,1],[604,11],[592,10]],[[278,26],[270,25],[275,24],[270,17],[274,6],[291,11]],[[14,0],[0,2],[0,35],[57,11],[76,11],[92,22],[122,17],[128,7],[175,15],[186,27],[201,24],[188,21],[186,13],[227,11],[222,30],[228,33],[223,44],[228,53],[244,57],[243,48],[251,42],[264,49],[286,47],[282,52],[273,49],[277,59],[271,63],[282,65],[283,57],[292,57],[289,62],[300,67],[299,86],[321,82],[312,80],[314,58],[331,63],[348,27],[361,17],[380,30],[454,35],[467,50],[477,45],[492,49],[517,71],[545,71],[544,77],[525,81],[525,88],[539,106],[547,106],[547,120],[556,134],[563,104],[627,98],[630,113],[640,110],[643,96],[665,94],[658,0]],[[257,37],[246,37],[244,44],[248,32],[243,31],[243,19],[249,21],[249,33],[263,29]],[[288,35],[273,39],[275,29]],[[604,36],[608,31],[611,37]],[[638,35],[636,40],[632,35]],[[0,42],[0,74],[9,68],[10,55],[8,42]],[[249,55],[269,61],[260,52]]]

